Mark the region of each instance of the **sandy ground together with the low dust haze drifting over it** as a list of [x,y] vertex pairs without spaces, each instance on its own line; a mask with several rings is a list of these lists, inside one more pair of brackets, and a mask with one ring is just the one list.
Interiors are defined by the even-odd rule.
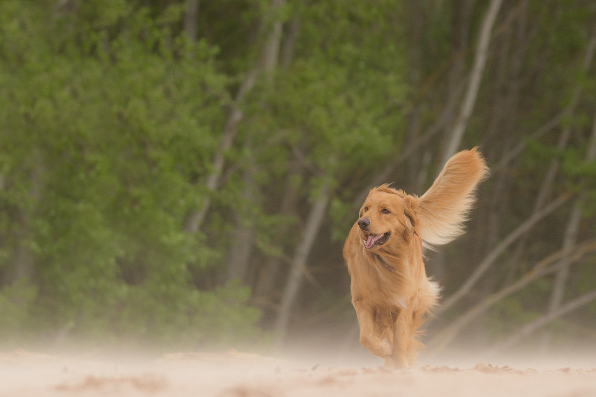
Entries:
[[[482,348],[423,352],[408,370],[358,341],[312,335],[283,349],[167,351],[97,345],[2,349],[2,396],[593,396],[596,346],[540,352],[529,346],[501,355]],[[585,341],[584,341],[585,342]]]

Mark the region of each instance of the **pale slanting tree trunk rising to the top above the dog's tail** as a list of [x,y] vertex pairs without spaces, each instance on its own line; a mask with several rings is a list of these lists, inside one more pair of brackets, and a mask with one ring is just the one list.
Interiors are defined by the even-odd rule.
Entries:
[[449,158],[457,152],[460,146],[461,138],[464,135],[465,127],[468,125],[468,120],[476,104],[476,96],[480,87],[480,80],[484,71],[486,57],[488,55],[488,46],[491,39],[492,26],[495,23],[496,15],[501,8],[502,0],[491,0],[488,11],[482,23],[480,30],[480,39],[476,47],[476,55],[474,57],[474,66],[470,73],[470,82],[465,93],[464,102],[461,107],[460,116],[455,121],[455,126],[449,136],[448,143],[443,151],[443,157],[439,168],[449,160]]

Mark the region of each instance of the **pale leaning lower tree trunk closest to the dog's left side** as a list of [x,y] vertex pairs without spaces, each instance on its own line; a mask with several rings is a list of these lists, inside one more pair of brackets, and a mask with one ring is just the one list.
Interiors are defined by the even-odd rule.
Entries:
[[306,260],[311,252],[315,237],[325,218],[325,211],[329,203],[329,186],[325,183],[321,187],[318,198],[313,202],[311,211],[306,220],[305,230],[302,234],[302,240],[296,246],[296,252],[288,274],[288,281],[285,285],[284,293],[281,298],[280,313],[275,323],[275,337],[278,346],[283,344],[290,324],[291,308],[296,300],[297,293],[302,285],[302,274],[305,271]]

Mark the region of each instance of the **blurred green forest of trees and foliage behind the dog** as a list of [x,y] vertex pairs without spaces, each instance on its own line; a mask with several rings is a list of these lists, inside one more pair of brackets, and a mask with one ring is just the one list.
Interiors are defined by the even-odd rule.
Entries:
[[1,339],[350,348],[368,189],[480,146],[429,349],[596,342],[595,49],[593,0],[0,1]]

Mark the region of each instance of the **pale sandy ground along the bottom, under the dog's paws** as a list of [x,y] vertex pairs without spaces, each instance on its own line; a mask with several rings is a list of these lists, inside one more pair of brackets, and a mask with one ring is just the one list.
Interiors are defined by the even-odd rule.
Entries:
[[328,367],[230,351],[157,360],[82,360],[26,351],[0,354],[0,396],[596,396],[596,369],[476,364]]

